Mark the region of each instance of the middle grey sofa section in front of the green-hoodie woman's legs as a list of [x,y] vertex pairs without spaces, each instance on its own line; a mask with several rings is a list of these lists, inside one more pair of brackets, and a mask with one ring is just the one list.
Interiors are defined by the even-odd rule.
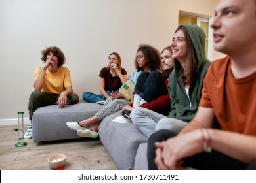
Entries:
[[133,169],[139,144],[147,142],[148,137],[143,135],[133,123],[112,122],[112,119],[117,116],[121,116],[120,111],[102,120],[98,131],[100,141],[119,169],[128,169],[129,167]]

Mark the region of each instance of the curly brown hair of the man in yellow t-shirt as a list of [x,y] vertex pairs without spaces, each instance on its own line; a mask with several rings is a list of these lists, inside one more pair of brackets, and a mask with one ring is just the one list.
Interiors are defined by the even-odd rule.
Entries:
[[46,47],[45,50],[41,51],[41,60],[43,61],[43,63],[45,63],[46,61],[46,57],[47,55],[52,52],[54,54],[54,56],[56,56],[58,58],[58,67],[60,67],[60,65],[63,65],[64,63],[66,63],[66,58],[63,54],[63,52],[60,50],[60,48],[56,47],[56,46],[51,46],[51,47]]

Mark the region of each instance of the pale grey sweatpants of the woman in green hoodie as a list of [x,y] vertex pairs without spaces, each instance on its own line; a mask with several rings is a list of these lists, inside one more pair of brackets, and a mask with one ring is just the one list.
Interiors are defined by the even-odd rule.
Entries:
[[142,107],[133,108],[130,117],[133,124],[135,124],[146,137],[150,137],[152,133],[160,129],[171,129],[172,131],[179,132],[188,124]]

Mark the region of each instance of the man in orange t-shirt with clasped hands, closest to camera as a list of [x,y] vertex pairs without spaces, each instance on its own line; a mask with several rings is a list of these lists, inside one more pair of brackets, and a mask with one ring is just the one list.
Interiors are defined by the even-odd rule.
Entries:
[[[200,107],[179,135],[150,137],[151,169],[255,169],[256,0],[220,0],[211,27],[215,50],[228,56],[209,67]],[[212,128],[215,119],[222,130]]]

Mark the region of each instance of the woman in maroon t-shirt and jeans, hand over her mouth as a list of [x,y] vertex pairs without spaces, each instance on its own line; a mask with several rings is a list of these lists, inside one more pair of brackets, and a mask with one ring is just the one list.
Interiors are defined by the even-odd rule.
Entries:
[[108,97],[114,99],[122,98],[119,88],[127,82],[127,72],[121,66],[121,57],[117,52],[108,56],[108,65],[100,70],[100,95],[85,92],[83,100],[88,103],[106,101]]

